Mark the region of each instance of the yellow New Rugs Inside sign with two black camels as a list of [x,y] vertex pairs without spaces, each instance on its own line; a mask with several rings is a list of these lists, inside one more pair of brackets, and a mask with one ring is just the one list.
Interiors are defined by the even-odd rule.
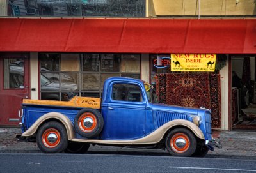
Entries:
[[216,54],[171,54],[171,71],[215,70]]

